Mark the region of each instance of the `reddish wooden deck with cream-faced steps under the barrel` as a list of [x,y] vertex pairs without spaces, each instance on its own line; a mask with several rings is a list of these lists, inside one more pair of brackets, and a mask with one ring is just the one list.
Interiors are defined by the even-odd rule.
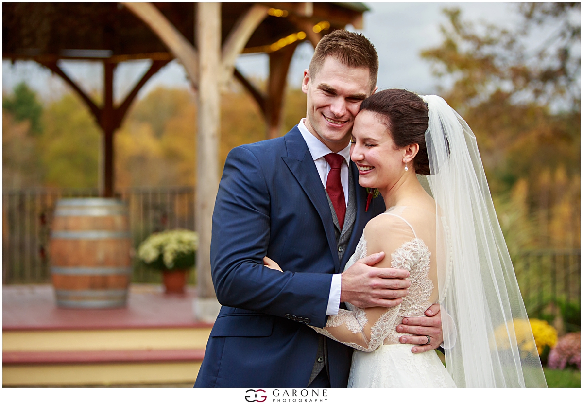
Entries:
[[72,310],[50,285],[4,286],[3,386],[194,384],[212,328],[194,296],[136,284],[125,309]]

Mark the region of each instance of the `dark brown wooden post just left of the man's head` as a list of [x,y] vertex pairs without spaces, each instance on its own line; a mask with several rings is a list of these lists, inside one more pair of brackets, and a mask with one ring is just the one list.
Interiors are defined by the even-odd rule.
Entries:
[[268,96],[265,101],[267,138],[281,135],[287,72],[298,44],[299,42],[294,42],[269,54]]

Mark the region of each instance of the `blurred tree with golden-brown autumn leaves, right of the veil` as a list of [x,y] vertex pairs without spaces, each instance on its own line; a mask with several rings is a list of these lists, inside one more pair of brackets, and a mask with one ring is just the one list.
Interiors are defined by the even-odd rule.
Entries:
[[476,135],[511,252],[579,248],[581,5],[517,7],[515,30],[445,9],[443,41],[422,57],[453,82],[440,93]]

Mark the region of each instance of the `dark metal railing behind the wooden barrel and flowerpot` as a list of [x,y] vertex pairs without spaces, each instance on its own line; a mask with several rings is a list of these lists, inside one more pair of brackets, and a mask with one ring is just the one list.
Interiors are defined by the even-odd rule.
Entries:
[[[48,241],[55,203],[65,197],[97,197],[96,188],[3,191],[2,278],[4,284],[50,282]],[[125,188],[133,251],[149,234],[194,230],[194,187]],[[160,282],[160,272],[132,258],[132,281]],[[191,276],[192,279],[193,276]]]

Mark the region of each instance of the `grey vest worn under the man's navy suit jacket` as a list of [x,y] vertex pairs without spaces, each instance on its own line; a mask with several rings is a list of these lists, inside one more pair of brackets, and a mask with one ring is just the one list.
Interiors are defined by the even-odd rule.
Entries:
[[[330,210],[332,211],[332,219],[334,221],[334,235],[336,237],[336,250],[338,251],[338,260],[342,261],[342,257],[346,252],[346,247],[348,246],[348,241],[350,240],[350,234],[352,234],[352,229],[354,227],[354,220],[356,219],[356,193],[354,191],[354,178],[352,174],[352,169],[348,167],[348,205],[346,206],[346,215],[344,216],[344,225],[342,227],[342,232],[340,232],[340,225],[338,223],[338,216],[336,216],[336,210],[328,192],[326,192],[326,197],[328,198],[328,204],[330,205]],[[344,268],[341,267],[340,271]],[[328,348],[326,346],[328,338],[318,335],[318,353],[314,362],[314,367],[312,368],[312,374],[310,376],[310,381],[308,386],[312,383],[315,377],[321,372],[323,368],[328,372],[328,379],[330,378],[330,371],[328,365]]]

